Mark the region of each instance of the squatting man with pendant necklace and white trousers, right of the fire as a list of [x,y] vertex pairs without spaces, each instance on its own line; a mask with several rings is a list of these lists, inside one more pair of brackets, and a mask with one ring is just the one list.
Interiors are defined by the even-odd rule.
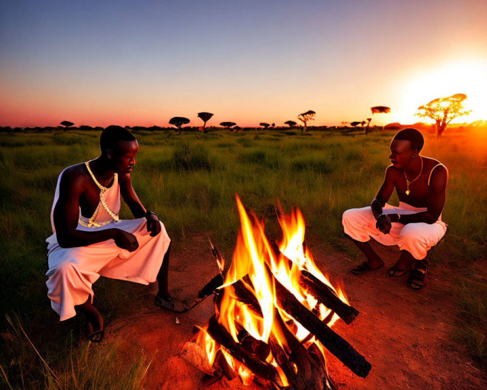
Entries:
[[[387,168],[384,183],[370,207],[343,213],[345,234],[367,257],[352,273],[366,273],[384,265],[368,243],[372,237],[401,250],[401,256],[388,270],[390,276],[402,276],[414,268],[408,284],[414,289],[423,286],[427,265],[423,259],[447,230],[441,213],[448,182],[448,170],[443,164],[420,156],[423,144],[423,136],[416,129],[398,132],[390,146],[392,165]],[[386,203],[394,189],[399,197],[398,207]]]

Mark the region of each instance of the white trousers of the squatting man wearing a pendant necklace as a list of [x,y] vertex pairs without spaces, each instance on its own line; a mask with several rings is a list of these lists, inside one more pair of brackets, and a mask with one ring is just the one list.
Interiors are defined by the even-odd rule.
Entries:
[[[399,202],[397,207],[386,203],[382,208],[383,214],[407,215],[425,211],[426,207],[413,207],[404,202]],[[345,234],[354,240],[366,242],[372,237],[383,245],[397,245],[400,250],[408,251],[417,260],[424,259],[431,247],[435,246],[447,231],[447,224],[441,220],[441,215],[432,224],[415,222],[403,225],[393,222],[389,234],[379,232],[375,228],[376,222],[370,206],[347,210],[342,216]]]

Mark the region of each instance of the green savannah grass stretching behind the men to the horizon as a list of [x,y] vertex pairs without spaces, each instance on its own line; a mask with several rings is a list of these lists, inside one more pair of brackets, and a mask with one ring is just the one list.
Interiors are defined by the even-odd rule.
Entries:
[[[70,340],[82,338],[78,330],[82,328],[81,319],[60,326],[49,307],[44,284],[45,238],[51,234],[49,215],[59,173],[69,165],[98,156],[99,134],[76,130],[0,134],[0,304],[4,312],[19,315],[17,327],[23,326],[58,377],[74,375],[69,373],[73,369],[66,365],[66,359],[83,353],[97,358],[92,356],[93,348],[84,350],[86,343],[71,344]],[[304,136],[298,131],[210,131],[175,136],[167,131],[142,131],[135,136],[140,149],[132,173],[133,186],[144,205],[164,222],[174,250],[183,248],[190,235],[205,234],[229,257],[239,226],[235,208],[238,193],[246,207],[265,216],[271,236],[278,235],[276,224],[271,222],[275,222],[279,199],[284,211],[300,207],[311,240],[358,259],[360,254],[344,238],[341,215],[349,208],[370,204],[376,195],[389,165],[393,134],[344,137],[331,131]],[[455,285],[460,286],[463,309],[468,313],[459,319],[459,337],[479,358],[487,355],[486,329],[471,319],[481,316],[486,323],[485,279],[484,284],[473,281],[469,273],[487,252],[486,146],[485,133],[447,131],[439,139],[427,136],[423,152],[450,170],[443,212],[449,227],[428,258],[432,267],[454,270],[455,276],[444,273],[443,277],[458,279]],[[391,203],[397,203],[395,195]],[[124,206],[121,217],[131,217]],[[143,288],[102,278],[95,286],[97,307],[109,321],[126,312],[130,296]],[[483,306],[475,306],[476,301]],[[15,333],[5,321],[0,323],[0,331]],[[17,347],[26,343],[19,340],[24,341],[15,344]],[[10,346],[0,352],[3,370],[11,384],[15,380],[14,389],[28,389],[19,382],[21,369],[15,367],[31,363],[20,357],[14,360],[19,362],[17,366],[10,364],[12,353],[32,353],[22,348]],[[108,364],[103,359],[97,361]],[[116,376],[115,371],[110,372]],[[49,374],[38,369],[34,376],[45,382]],[[49,386],[45,388],[53,388]],[[110,388],[130,388],[114,386]]]

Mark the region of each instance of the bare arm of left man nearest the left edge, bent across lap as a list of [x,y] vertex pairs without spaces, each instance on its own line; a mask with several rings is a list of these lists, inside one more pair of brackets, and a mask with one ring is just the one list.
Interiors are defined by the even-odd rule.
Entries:
[[120,229],[104,229],[94,232],[76,230],[79,218],[79,197],[86,189],[87,178],[76,172],[66,171],[59,183],[59,199],[54,208],[54,226],[57,243],[62,248],[83,247],[114,239],[120,248],[134,251],[138,243],[130,233]]

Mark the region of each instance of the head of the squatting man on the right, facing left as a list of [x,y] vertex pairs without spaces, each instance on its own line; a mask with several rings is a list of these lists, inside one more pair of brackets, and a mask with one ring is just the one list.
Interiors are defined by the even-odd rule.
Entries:
[[408,128],[398,132],[391,142],[391,162],[396,168],[404,168],[414,158],[418,158],[423,149],[424,138],[416,129]]

